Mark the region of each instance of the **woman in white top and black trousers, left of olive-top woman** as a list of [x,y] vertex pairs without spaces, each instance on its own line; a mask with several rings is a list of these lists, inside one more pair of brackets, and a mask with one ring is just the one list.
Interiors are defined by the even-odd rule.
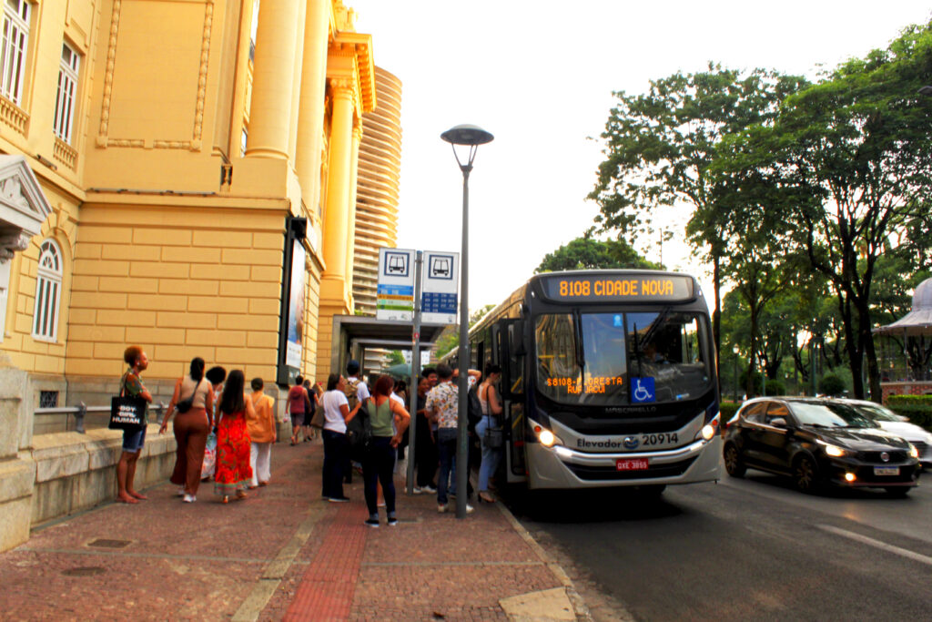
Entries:
[[349,501],[343,494],[343,465],[348,463],[347,422],[351,421],[362,402],[349,409],[344,391],[346,379],[339,374],[327,378],[327,391],[321,398],[323,406],[323,492],[332,503]]

